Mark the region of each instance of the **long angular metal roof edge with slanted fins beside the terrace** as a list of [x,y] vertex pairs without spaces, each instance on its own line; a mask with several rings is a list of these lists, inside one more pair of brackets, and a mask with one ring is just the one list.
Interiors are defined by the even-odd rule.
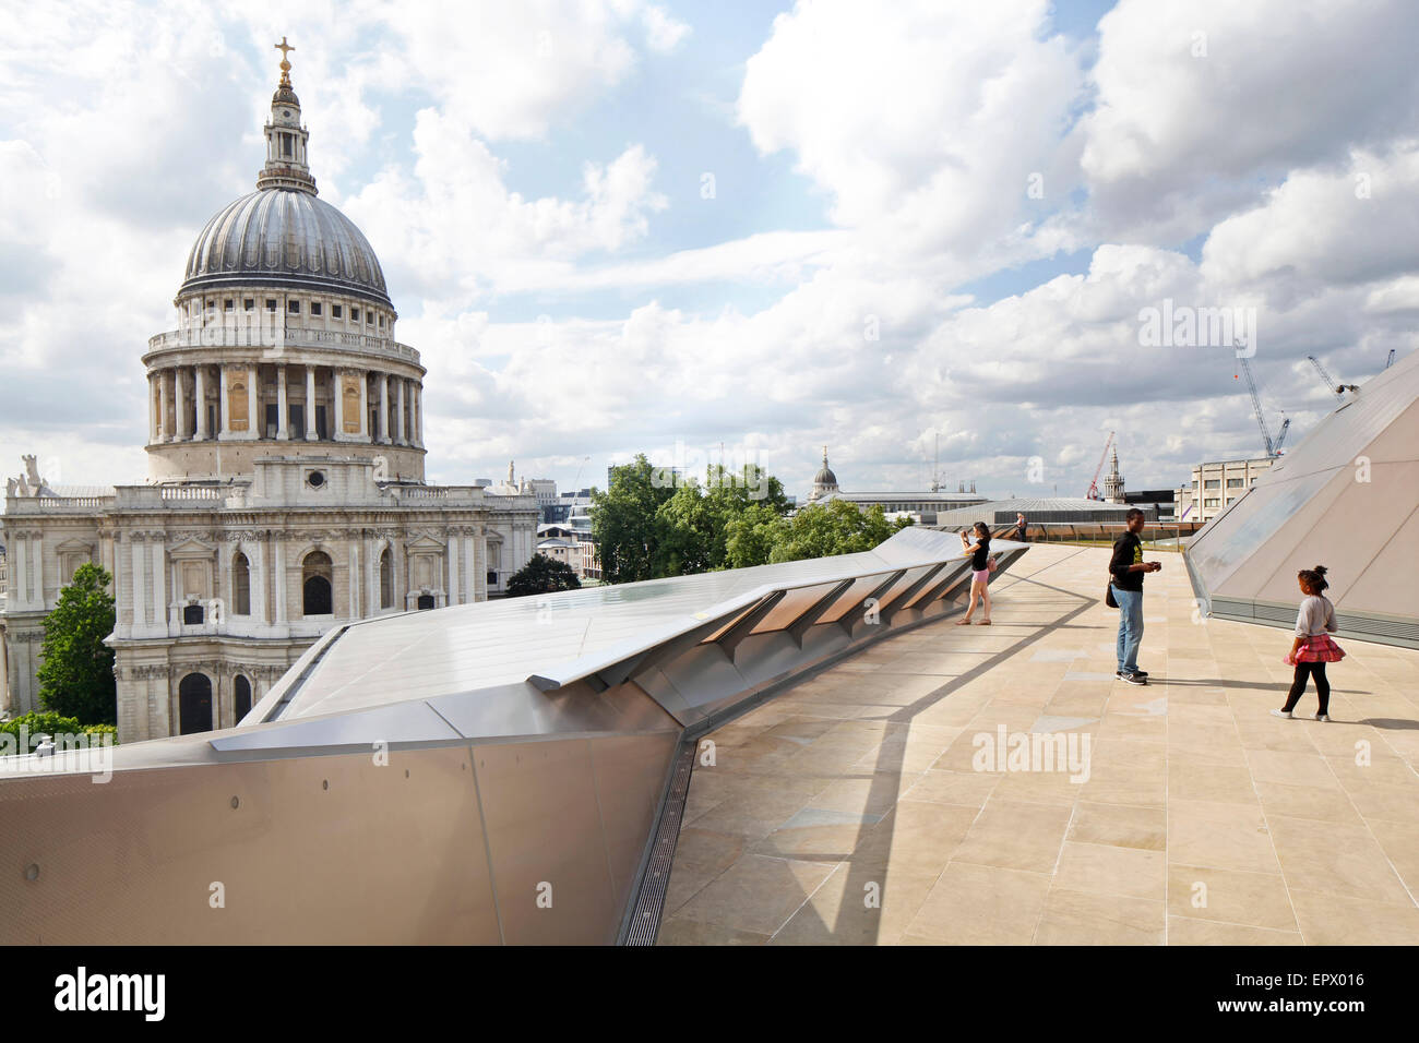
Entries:
[[[1027,548],[993,549],[1003,570]],[[238,727],[111,749],[104,785],[0,758],[0,941],[647,941],[694,741],[954,612],[968,565],[955,535],[910,528],[359,622]]]

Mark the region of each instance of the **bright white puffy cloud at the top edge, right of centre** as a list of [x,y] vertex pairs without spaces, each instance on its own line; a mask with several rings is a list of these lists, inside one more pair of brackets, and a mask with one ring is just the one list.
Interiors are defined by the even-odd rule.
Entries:
[[749,60],[739,119],[766,153],[792,149],[833,219],[884,251],[969,251],[1057,206],[1081,74],[1042,38],[1044,0],[799,4]]

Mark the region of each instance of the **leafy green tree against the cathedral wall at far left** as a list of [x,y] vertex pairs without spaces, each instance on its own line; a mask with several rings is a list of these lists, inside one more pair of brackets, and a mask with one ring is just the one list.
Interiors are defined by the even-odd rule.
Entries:
[[106,590],[112,582],[85,562],[44,617],[40,705],[85,724],[118,724],[114,650],[104,644],[114,633],[114,597]]

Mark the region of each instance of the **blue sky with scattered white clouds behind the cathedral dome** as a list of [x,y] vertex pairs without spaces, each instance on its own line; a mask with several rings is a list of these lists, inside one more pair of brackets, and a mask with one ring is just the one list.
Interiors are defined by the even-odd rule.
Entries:
[[[636,451],[1081,495],[1276,433],[1419,318],[1405,0],[0,3],[0,471],[146,475],[148,338],[289,37],[321,197],[429,368],[430,480]],[[589,457],[589,461],[586,460]],[[1032,467],[1032,463],[1034,467]]]

